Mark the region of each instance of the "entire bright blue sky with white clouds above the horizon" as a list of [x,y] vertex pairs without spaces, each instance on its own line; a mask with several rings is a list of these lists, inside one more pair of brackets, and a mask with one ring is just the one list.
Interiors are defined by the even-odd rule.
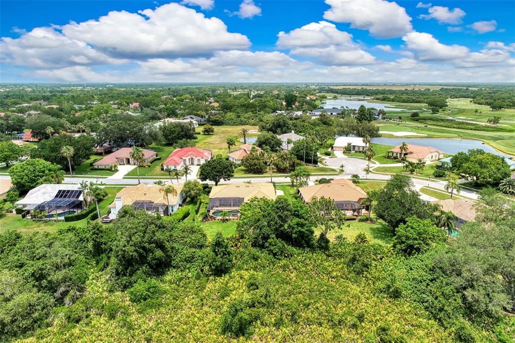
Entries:
[[2,82],[515,81],[515,1],[0,2]]

